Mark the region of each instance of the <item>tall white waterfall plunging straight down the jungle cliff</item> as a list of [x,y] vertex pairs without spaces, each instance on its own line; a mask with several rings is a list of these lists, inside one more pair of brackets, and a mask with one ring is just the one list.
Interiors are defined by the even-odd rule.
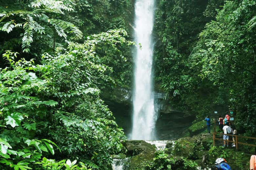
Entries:
[[[155,139],[156,112],[152,90],[152,30],[154,23],[154,0],[136,0],[135,41],[138,43],[135,56],[133,91],[132,139]],[[140,46],[141,45],[141,46]]]

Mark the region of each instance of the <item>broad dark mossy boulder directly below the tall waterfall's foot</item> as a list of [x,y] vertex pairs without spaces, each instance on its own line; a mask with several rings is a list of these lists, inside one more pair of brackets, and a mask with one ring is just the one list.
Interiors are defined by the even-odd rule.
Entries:
[[135,156],[140,153],[156,152],[157,147],[142,140],[127,140],[122,142],[127,149],[127,156]]

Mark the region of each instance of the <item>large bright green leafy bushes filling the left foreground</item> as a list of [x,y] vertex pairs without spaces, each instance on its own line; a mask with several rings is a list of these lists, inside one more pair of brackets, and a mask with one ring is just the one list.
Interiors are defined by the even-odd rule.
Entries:
[[[115,53],[119,47],[134,45],[122,35],[127,34],[112,30],[92,35],[84,44],[70,43],[67,50],[58,48],[55,55],[45,53],[41,65],[33,60],[15,61],[17,53],[6,51],[9,67],[0,74],[0,123],[6,125],[0,135],[4,141],[2,163],[16,166],[21,158],[27,158],[25,165],[30,168],[42,156],[54,154],[53,147],[58,146],[58,159],[79,158],[85,167],[110,169],[110,155],[121,151],[120,140],[125,136],[99,97],[98,87],[115,85],[115,81],[112,68],[97,51]],[[14,146],[14,155],[24,153],[16,159],[9,157],[14,152],[8,153]]]

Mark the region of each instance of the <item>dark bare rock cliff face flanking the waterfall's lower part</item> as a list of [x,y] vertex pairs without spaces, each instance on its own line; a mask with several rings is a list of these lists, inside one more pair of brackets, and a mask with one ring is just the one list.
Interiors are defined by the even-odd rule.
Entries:
[[[132,127],[132,100],[127,94],[115,100],[105,100],[117,124],[124,129],[129,137]],[[195,119],[193,114],[187,111],[179,111],[172,108],[168,101],[163,99],[163,94],[155,93],[155,107],[158,110],[155,133],[159,140],[171,140],[188,135],[188,127]]]

